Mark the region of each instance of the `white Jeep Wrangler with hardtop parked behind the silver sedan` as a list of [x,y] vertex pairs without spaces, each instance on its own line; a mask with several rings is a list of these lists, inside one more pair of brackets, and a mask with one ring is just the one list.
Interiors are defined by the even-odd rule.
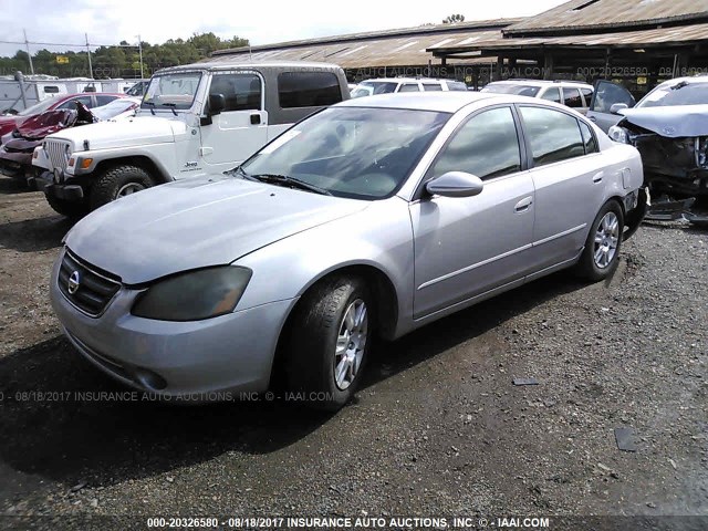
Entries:
[[64,129],[33,154],[34,185],[64,216],[233,168],[309,114],[350,97],[326,63],[209,63],[157,72],[136,117]]

